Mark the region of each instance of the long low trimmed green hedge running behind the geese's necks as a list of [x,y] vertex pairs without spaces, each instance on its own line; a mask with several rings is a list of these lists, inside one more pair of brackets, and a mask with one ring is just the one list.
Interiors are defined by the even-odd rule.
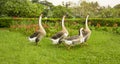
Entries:
[[[44,23],[61,22],[61,18],[43,18]],[[37,24],[38,18],[0,18],[0,27],[10,27],[18,24]],[[65,19],[68,25],[78,23],[84,24],[85,18]],[[120,26],[120,18],[89,18],[89,24],[92,26]]]

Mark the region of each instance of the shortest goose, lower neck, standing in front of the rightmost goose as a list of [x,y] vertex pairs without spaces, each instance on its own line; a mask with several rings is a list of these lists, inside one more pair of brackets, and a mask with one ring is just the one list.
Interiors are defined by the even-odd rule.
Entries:
[[82,31],[83,31],[83,28],[80,28],[79,35],[71,36],[63,39],[64,44],[69,46],[68,49],[70,49],[71,46],[74,46],[76,44],[81,44],[84,42]]

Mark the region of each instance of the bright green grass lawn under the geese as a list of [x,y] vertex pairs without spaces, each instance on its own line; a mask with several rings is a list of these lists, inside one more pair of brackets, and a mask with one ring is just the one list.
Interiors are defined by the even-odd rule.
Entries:
[[0,30],[0,64],[119,64],[120,35],[92,31],[88,46],[72,47],[51,44],[48,37],[39,46],[27,36]]

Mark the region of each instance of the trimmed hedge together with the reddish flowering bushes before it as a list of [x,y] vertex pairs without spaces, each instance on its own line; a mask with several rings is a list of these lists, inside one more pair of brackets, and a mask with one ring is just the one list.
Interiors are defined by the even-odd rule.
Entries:
[[[79,28],[84,27],[84,23],[85,19],[65,19],[65,26],[70,32],[70,35],[75,34],[73,32],[74,30],[78,31]],[[114,30],[114,33],[120,33],[119,29],[114,29],[120,25],[120,19],[89,19],[88,23],[91,30],[107,32]],[[109,24],[106,25],[105,23]],[[47,36],[52,36],[54,33],[61,30],[61,18],[43,18],[42,24],[47,32]],[[10,30],[19,31],[25,35],[30,35],[39,29],[38,18],[1,18],[0,27],[10,27]],[[111,27],[113,27],[113,29],[111,29]]]

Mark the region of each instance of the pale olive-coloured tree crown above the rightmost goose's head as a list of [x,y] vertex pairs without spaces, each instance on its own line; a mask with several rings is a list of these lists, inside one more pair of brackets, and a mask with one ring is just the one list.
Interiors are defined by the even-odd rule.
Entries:
[[99,17],[99,11],[101,11],[100,6],[97,2],[86,2],[81,1],[80,6],[73,8],[73,15],[75,17],[86,17],[86,15],[91,15],[91,17]]

